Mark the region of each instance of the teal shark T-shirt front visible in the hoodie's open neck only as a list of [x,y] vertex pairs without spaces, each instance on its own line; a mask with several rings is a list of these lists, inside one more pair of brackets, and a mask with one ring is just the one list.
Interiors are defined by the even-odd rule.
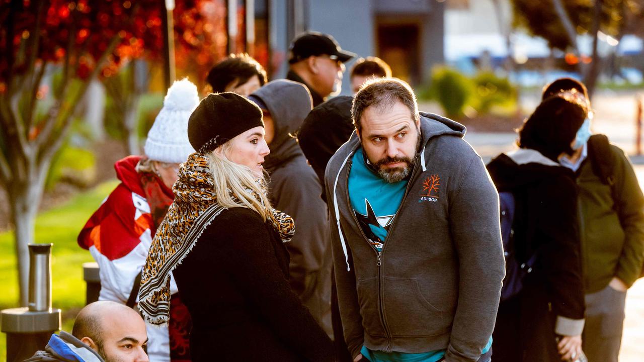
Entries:
[[348,180],[351,207],[370,244],[380,252],[408,180],[392,184],[383,180],[365,164],[362,149],[355,151],[352,161]]

